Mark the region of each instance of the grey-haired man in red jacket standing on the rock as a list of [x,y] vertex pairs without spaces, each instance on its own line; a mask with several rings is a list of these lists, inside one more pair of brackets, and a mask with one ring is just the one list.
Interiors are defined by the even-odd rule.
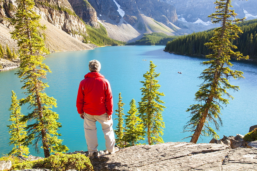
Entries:
[[84,130],[90,156],[98,158],[96,121],[102,124],[105,146],[109,154],[118,151],[113,132],[113,97],[110,83],[99,73],[101,64],[97,60],[89,61],[90,72],[79,84],[77,110],[84,119]]

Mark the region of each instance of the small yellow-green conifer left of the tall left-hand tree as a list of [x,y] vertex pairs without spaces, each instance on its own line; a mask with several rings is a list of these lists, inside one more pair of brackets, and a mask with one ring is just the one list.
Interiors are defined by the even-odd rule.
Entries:
[[7,125],[9,127],[9,134],[10,136],[10,145],[13,144],[14,147],[9,155],[28,155],[29,148],[27,147],[27,134],[25,131],[26,122],[21,121],[21,118],[24,116],[21,114],[21,107],[19,105],[19,100],[17,100],[17,96],[15,95],[14,91],[12,91],[12,104],[9,109],[12,111],[10,114],[9,121],[12,121],[11,125]]

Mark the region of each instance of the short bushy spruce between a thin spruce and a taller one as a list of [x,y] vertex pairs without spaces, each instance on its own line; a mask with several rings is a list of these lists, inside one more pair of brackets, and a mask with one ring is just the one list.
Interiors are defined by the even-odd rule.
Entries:
[[143,121],[137,116],[138,110],[136,108],[136,101],[134,99],[130,102],[130,110],[127,112],[125,119],[125,131],[123,141],[125,147],[139,145],[140,140],[144,140],[145,131]]

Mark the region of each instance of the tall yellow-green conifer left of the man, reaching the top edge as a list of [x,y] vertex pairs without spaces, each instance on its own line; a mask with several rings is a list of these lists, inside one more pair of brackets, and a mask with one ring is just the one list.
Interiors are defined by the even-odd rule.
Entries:
[[24,82],[22,89],[26,90],[24,93],[27,96],[20,103],[29,105],[31,109],[31,113],[25,115],[23,120],[30,121],[26,129],[35,150],[38,152],[38,144],[42,141],[44,156],[49,157],[50,153],[66,152],[68,148],[58,139],[61,134],[57,130],[61,123],[58,122],[59,115],[51,110],[53,106],[57,107],[56,99],[44,92],[44,88],[49,86],[42,81],[46,78],[46,73],[51,72],[43,63],[45,58],[42,54],[48,51],[38,30],[46,27],[40,25],[40,16],[33,11],[34,1],[16,0],[16,3],[18,10],[12,20],[15,30],[11,35],[17,40],[21,59],[20,69],[16,74]]

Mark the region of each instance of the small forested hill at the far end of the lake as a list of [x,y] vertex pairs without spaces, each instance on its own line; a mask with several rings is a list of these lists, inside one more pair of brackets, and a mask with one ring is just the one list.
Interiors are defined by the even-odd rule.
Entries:
[[126,45],[166,45],[168,41],[171,41],[178,36],[168,36],[164,33],[150,33],[143,34],[140,40],[128,43]]

